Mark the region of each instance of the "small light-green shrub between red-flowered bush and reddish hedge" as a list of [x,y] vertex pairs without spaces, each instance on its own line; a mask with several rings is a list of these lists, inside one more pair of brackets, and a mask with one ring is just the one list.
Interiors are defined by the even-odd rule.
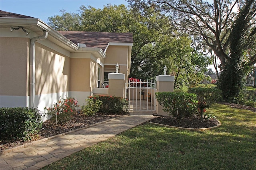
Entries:
[[86,99],[86,105],[82,106],[82,112],[85,115],[93,116],[100,111],[102,106],[102,101],[96,99],[95,102],[93,99]]

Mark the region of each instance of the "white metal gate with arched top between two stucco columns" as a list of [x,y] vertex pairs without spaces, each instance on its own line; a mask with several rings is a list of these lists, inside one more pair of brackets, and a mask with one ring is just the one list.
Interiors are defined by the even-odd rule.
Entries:
[[133,111],[155,111],[156,83],[152,81],[141,81],[129,79],[125,84],[125,97],[129,100],[130,110]]

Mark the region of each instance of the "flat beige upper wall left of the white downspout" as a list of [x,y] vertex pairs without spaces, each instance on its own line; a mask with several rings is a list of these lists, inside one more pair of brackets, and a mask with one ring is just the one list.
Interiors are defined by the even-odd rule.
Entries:
[[0,94],[28,96],[29,38],[0,38]]

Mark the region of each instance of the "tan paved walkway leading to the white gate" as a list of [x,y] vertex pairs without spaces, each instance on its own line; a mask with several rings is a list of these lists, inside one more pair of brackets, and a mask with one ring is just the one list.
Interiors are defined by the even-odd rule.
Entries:
[[140,125],[153,115],[122,116],[111,121],[99,123],[59,137],[34,142],[26,147],[4,153],[0,157],[0,170],[36,170],[70,154],[97,144],[129,128]]

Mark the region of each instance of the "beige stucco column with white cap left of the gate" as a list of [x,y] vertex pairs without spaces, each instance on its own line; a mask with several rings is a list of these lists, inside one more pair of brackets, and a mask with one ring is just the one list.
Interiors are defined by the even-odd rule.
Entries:
[[108,95],[124,97],[124,79],[124,74],[108,73]]

